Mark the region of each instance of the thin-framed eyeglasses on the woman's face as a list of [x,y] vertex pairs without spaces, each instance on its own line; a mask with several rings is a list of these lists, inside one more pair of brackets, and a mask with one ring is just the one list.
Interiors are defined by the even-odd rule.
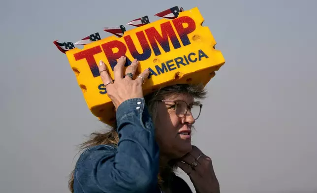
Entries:
[[184,117],[187,114],[188,109],[190,109],[190,113],[192,117],[196,120],[198,119],[202,104],[200,102],[194,102],[188,105],[185,101],[182,100],[161,100],[162,102],[173,102],[175,105],[171,106],[170,108],[174,107],[176,115],[178,117]]

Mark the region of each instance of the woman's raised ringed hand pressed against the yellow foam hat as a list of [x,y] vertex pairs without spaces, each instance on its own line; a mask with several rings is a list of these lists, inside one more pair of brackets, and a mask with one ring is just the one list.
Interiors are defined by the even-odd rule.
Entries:
[[[132,61],[132,64],[127,67],[125,72],[126,76],[124,77],[123,72],[126,60],[126,57],[120,57],[118,63],[114,67],[115,81],[111,79],[106,65],[102,61],[99,63],[101,80],[105,85],[107,94],[112,100],[116,109],[127,99],[143,97],[142,84],[150,73],[149,69],[147,68],[134,79],[134,74],[139,64],[139,61],[135,59]],[[128,73],[131,76],[127,75]]]

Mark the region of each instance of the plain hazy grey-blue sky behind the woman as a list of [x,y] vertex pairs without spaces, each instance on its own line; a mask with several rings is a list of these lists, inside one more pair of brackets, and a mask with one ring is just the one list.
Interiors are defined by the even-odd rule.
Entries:
[[198,6],[226,60],[193,135],[222,193],[317,193],[317,0],[1,1],[0,193],[68,193],[76,145],[105,128],[53,40],[175,5]]

